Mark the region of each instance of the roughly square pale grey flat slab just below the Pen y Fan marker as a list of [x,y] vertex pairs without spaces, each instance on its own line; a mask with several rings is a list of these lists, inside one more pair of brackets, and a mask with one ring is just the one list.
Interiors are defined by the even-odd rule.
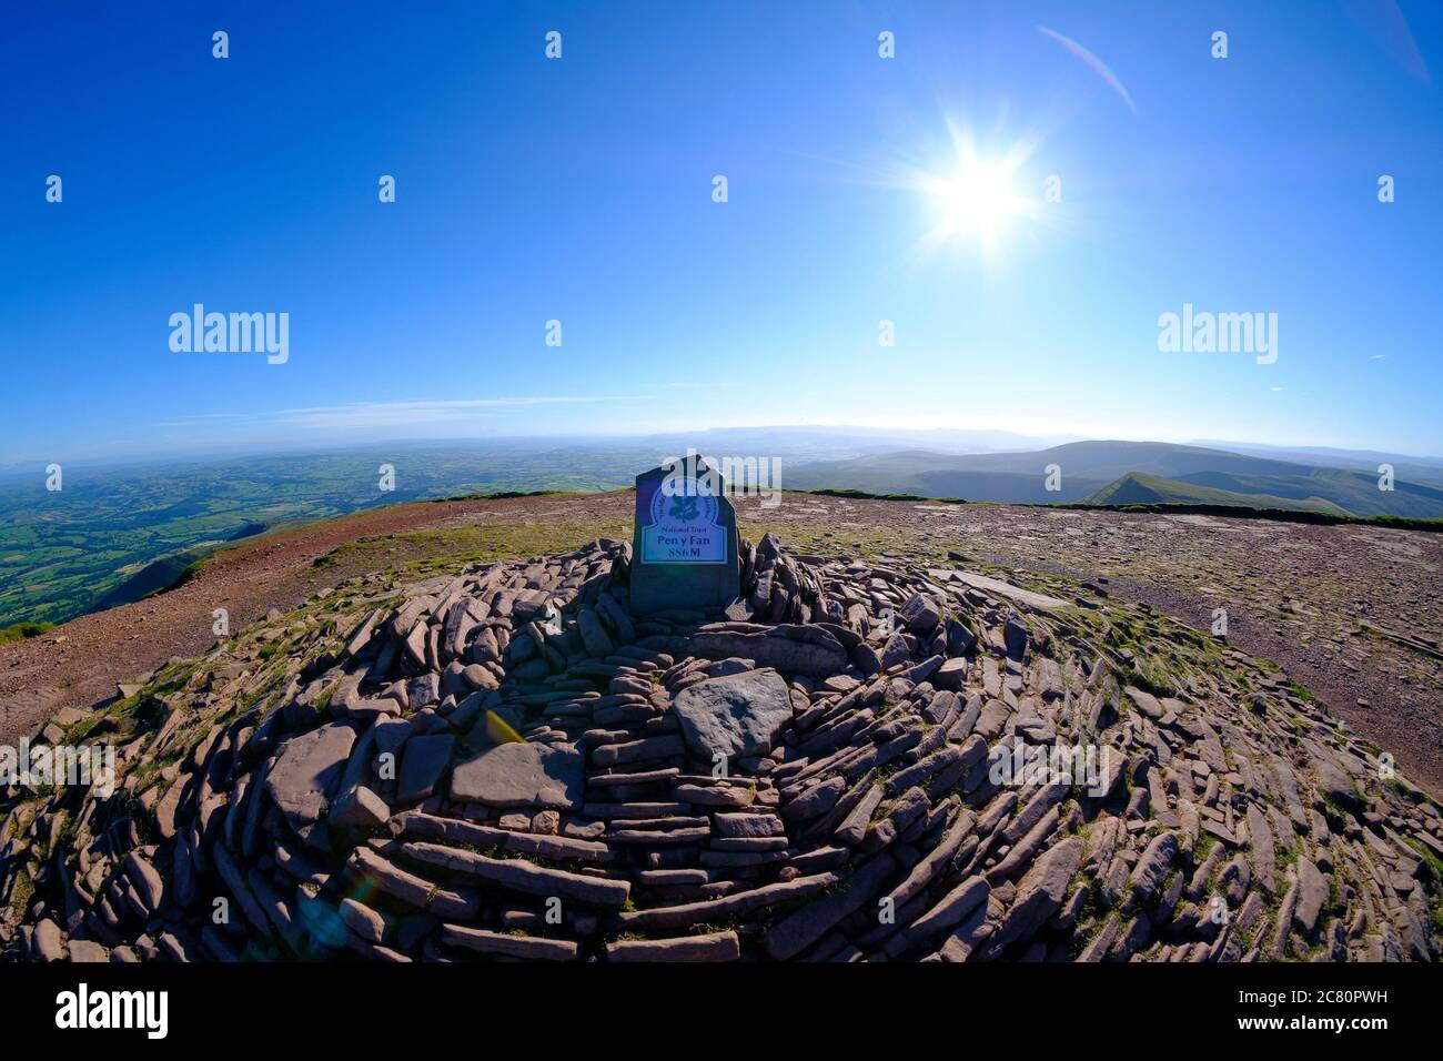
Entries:
[[759,670],[688,686],[672,710],[694,755],[730,761],[769,752],[791,722],[792,699],[781,674]]

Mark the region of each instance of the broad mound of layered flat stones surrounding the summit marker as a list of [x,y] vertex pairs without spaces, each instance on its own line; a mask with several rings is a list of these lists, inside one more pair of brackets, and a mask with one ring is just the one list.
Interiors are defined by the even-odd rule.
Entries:
[[[121,782],[4,793],[4,954],[1439,953],[1434,803],[1211,638],[772,536],[724,615],[638,619],[628,564],[377,576],[81,722]],[[1095,784],[988,755],[1084,743]]]

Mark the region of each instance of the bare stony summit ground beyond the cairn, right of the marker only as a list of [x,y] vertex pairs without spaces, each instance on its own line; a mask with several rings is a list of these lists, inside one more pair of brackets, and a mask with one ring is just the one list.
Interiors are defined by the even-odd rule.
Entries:
[[1276,664],[1443,795],[1440,534],[825,497],[788,498],[766,527],[818,549],[1062,575],[1202,631],[1227,609],[1229,644]]

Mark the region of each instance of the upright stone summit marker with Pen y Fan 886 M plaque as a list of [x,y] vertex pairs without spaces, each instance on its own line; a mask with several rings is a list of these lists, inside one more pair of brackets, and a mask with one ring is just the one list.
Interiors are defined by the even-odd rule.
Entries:
[[740,592],[736,510],[720,472],[688,455],[638,475],[632,611],[726,608]]

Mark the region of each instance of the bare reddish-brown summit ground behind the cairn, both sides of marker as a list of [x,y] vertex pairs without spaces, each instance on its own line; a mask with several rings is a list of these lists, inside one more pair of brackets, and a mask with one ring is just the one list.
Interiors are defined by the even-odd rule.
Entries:
[[[62,707],[102,700],[117,681],[172,657],[206,651],[215,641],[215,608],[227,608],[238,631],[355,575],[420,559],[444,562],[449,537],[417,531],[489,525],[530,528],[537,537],[576,524],[580,538],[586,525],[625,524],[631,507],[629,494],[418,502],[242,543],[169,593],[0,645],[0,742],[33,733]],[[971,562],[1105,580],[1111,595],[1199,629],[1224,608],[1232,645],[1281,665],[1392,752],[1410,777],[1443,791],[1443,661],[1361,632],[1367,624],[1437,642],[1440,534],[812,495],[786,495],[772,510],[746,501],[739,521],[750,537],[776,530],[795,551],[932,562],[960,553]],[[392,534],[398,537],[355,547]],[[574,544],[580,541],[567,547]],[[328,554],[330,560],[315,564]]]

